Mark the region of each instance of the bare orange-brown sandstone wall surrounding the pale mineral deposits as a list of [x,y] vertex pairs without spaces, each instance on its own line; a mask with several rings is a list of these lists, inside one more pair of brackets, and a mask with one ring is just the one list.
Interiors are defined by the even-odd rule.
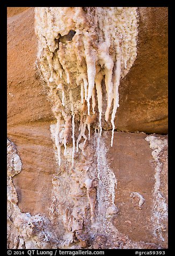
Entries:
[[[47,89],[35,64],[37,38],[34,33],[34,8],[8,8],[8,16],[8,138],[16,145],[22,163],[21,172],[15,175],[12,181],[17,191],[19,209],[31,215],[42,214],[51,221],[49,225],[52,225],[55,232],[53,237],[60,239],[60,242],[50,241],[50,248],[53,248],[61,243],[63,235],[59,230],[55,230],[55,226],[60,225],[63,232],[65,227],[61,221],[60,224],[57,223],[59,217],[56,210],[50,215],[50,207],[56,205],[53,203],[53,175],[59,173],[59,167],[50,136],[50,124],[55,120],[51,110],[52,104],[47,99]],[[115,205],[118,214],[111,222],[117,230],[112,234],[113,246],[166,248],[166,219],[162,220],[164,241],[160,236],[155,236],[155,223],[151,221],[156,163],[151,156],[149,143],[145,141],[145,133],[167,134],[167,8],[138,8],[138,16],[137,59],[120,83],[120,107],[115,126],[122,132],[114,132],[112,148],[111,131],[103,131],[105,146],[108,149],[107,163],[117,180]],[[103,123],[103,128],[109,130],[111,126]],[[137,131],[140,133],[132,133]],[[161,135],[161,138],[167,139],[167,135]],[[93,137],[90,145],[93,155]],[[75,161],[78,161],[78,158]],[[92,161],[96,166],[95,157]],[[166,147],[163,148],[161,162],[159,190],[167,203]],[[97,177],[96,173],[94,177]],[[138,209],[139,198],[130,196],[133,192],[140,193],[144,198],[141,209]],[[89,205],[88,201],[86,204]],[[17,212],[20,214],[19,210]],[[86,216],[90,218],[89,210]],[[86,224],[88,223],[90,219],[87,220]],[[15,232],[16,229],[13,231],[13,238],[9,239],[15,240],[14,237],[18,237]],[[85,238],[85,244],[80,236],[76,241],[76,248],[111,246],[108,240],[100,245],[98,240],[102,238],[98,236],[97,232],[97,238],[90,239],[88,243]],[[32,246],[35,246],[34,242],[32,243]],[[22,240],[20,246],[21,244]],[[14,248],[16,245],[11,243],[9,246]],[[40,246],[39,248],[44,248],[46,245],[41,243]],[[49,248],[49,245],[47,246]]]

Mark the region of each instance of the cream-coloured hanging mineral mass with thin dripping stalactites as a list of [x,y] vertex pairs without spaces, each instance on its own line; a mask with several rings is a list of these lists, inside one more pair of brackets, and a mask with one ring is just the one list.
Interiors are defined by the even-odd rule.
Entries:
[[62,146],[65,156],[67,145],[72,145],[74,166],[91,131],[98,130],[101,136],[104,115],[112,124],[113,145],[120,79],[136,59],[136,9],[35,8],[39,69],[57,120],[53,137],[59,165]]

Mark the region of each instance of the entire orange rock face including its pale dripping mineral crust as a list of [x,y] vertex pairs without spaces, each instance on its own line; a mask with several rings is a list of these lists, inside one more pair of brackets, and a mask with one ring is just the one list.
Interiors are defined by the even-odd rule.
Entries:
[[7,143],[8,248],[167,248],[167,8],[8,8]]

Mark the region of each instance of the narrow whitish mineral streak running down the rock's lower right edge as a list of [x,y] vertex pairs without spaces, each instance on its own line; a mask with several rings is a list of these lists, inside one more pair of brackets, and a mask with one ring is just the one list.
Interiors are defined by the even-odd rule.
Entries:
[[164,241],[164,234],[166,231],[165,224],[167,224],[167,202],[165,196],[161,191],[161,172],[162,160],[161,154],[167,147],[167,139],[155,136],[148,136],[145,138],[150,143],[152,150],[152,158],[155,163],[155,186],[154,186],[154,201],[152,204],[152,223],[154,225],[153,233],[157,239]]

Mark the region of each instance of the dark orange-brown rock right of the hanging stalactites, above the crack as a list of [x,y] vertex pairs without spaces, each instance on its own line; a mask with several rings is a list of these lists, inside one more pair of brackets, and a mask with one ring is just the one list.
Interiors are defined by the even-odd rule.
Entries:
[[121,131],[167,133],[167,8],[138,8],[137,59],[119,87]]

